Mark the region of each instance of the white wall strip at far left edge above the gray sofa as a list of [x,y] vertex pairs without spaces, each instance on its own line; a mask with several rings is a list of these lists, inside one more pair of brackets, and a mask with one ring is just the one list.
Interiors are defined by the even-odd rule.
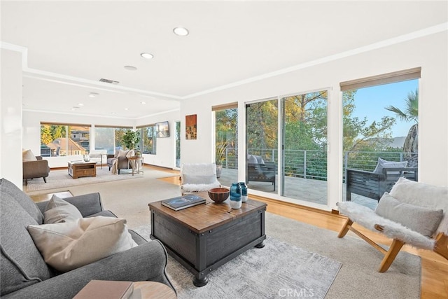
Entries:
[[0,178],[22,189],[22,53],[1,49]]

